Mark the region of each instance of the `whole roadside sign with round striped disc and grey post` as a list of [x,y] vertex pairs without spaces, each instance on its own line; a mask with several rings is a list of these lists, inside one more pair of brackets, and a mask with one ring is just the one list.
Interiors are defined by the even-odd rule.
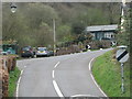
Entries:
[[123,64],[129,59],[129,53],[127,52],[127,46],[119,46],[119,51],[117,51],[116,58],[118,62],[121,63],[121,79],[122,79],[122,85],[121,85],[121,90],[124,94],[124,75],[123,75]]

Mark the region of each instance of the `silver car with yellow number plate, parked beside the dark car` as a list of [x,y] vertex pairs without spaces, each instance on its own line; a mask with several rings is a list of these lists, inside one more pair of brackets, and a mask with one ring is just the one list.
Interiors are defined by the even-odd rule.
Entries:
[[38,56],[50,56],[50,52],[46,47],[37,47],[36,57]]

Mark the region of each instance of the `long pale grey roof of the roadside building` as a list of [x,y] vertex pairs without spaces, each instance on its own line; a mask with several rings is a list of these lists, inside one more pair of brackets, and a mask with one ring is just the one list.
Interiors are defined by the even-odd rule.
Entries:
[[118,24],[112,25],[95,25],[95,26],[87,26],[87,32],[95,32],[95,31],[114,31],[118,29]]

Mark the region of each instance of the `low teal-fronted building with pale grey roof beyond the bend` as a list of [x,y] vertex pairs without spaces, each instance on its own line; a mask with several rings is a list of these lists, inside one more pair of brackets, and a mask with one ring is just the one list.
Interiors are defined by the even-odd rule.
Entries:
[[86,32],[92,35],[92,40],[110,40],[114,41],[116,31],[118,29],[118,24],[112,25],[94,25],[87,26]]

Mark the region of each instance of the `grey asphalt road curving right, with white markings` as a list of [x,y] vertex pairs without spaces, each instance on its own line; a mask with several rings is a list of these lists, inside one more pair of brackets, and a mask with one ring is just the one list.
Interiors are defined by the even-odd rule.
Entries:
[[[110,48],[109,48],[110,50]],[[91,61],[109,50],[18,61],[18,97],[105,97],[90,70]]]

